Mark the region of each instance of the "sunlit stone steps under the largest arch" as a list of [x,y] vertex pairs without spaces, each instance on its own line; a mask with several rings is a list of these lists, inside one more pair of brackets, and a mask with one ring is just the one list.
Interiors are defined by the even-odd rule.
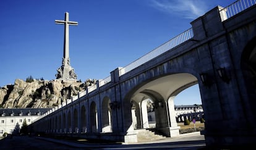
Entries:
[[148,129],[137,129],[137,140],[138,142],[147,142],[147,141],[158,141],[164,140],[167,137],[161,135],[155,128]]

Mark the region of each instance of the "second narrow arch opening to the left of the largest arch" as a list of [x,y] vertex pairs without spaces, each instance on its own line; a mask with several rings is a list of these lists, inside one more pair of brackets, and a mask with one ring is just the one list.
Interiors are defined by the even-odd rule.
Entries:
[[90,131],[98,131],[98,113],[96,103],[93,101],[90,105]]

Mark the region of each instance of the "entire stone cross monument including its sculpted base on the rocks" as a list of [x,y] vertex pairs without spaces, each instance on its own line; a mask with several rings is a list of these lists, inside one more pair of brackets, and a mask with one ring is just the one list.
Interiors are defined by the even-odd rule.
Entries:
[[77,75],[74,72],[74,69],[70,66],[69,59],[69,25],[78,25],[78,22],[69,21],[69,13],[65,13],[65,20],[55,20],[56,24],[61,24],[65,26],[64,30],[64,52],[62,57],[62,65],[57,70],[55,75],[59,80],[65,81],[76,81]]

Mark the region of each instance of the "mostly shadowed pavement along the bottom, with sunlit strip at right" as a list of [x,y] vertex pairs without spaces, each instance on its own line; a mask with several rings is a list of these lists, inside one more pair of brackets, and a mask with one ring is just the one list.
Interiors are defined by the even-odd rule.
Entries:
[[199,132],[146,143],[88,143],[57,140],[41,136],[14,136],[0,140],[1,149],[203,149],[204,136]]

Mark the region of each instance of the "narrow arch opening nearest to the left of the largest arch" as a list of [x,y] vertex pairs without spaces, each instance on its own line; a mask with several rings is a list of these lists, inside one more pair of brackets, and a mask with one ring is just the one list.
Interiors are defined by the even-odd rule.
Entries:
[[109,107],[109,103],[111,100],[108,97],[103,98],[101,104],[101,127],[102,132],[112,132],[112,124],[111,124],[111,109]]

